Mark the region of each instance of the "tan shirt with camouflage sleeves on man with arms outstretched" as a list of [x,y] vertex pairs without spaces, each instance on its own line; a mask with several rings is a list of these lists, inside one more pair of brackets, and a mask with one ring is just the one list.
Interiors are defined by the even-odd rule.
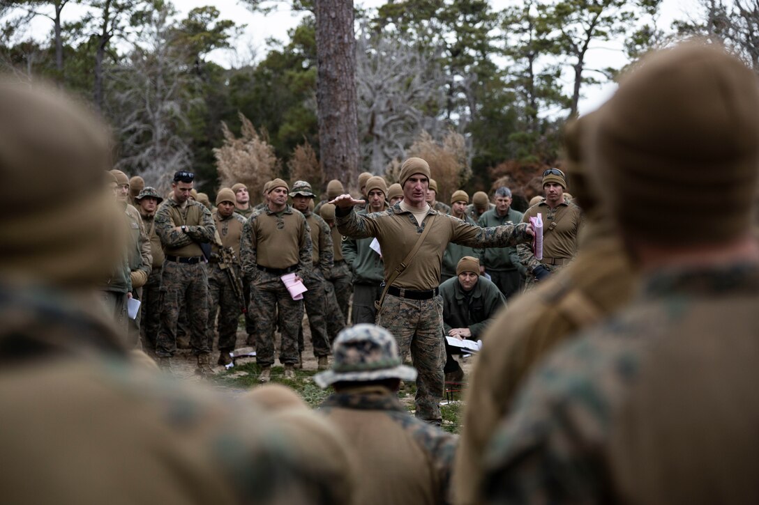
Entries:
[[354,239],[377,238],[382,249],[386,281],[414,248],[430,218],[436,216],[416,256],[392,283],[395,287],[410,290],[431,290],[439,285],[442,255],[449,242],[480,248],[515,246],[531,240],[526,224],[481,228],[432,209],[427,211],[420,227],[414,215],[402,211],[398,204],[372,214],[359,214],[354,209],[347,215],[340,212],[339,208],[335,209],[335,222],[341,234]]

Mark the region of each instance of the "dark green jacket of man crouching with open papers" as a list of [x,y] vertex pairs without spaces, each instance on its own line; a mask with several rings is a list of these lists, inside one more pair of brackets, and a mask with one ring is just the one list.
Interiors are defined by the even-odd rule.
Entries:
[[442,327],[446,335],[452,328],[469,328],[473,339],[480,338],[499,309],[506,306],[506,299],[496,284],[481,275],[471,295],[466,296],[458,277],[454,277],[440,284],[440,296]]

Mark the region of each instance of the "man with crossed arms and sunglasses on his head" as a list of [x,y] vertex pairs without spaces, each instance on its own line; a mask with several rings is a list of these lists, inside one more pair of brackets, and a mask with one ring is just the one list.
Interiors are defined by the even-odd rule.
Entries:
[[156,212],[156,231],[165,252],[156,356],[159,356],[159,366],[171,369],[171,357],[177,350],[177,322],[184,305],[190,319],[190,343],[197,356],[196,373],[211,375],[213,369],[206,338],[208,271],[201,244],[213,243],[216,228],[209,210],[190,199],[194,177],[192,172],[176,172],[172,181],[174,196]]

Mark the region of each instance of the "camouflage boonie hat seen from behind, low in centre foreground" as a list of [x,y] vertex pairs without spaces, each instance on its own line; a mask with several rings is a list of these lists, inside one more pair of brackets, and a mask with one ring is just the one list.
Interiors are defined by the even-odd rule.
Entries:
[[395,337],[376,325],[355,325],[341,331],[332,346],[332,356],[332,370],[313,376],[320,387],[340,381],[417,378],[416,369],[402,364]]

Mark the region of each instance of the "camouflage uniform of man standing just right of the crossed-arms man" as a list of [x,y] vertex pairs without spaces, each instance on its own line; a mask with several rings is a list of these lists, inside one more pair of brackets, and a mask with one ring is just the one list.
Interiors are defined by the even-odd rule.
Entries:
[[[219,231],[219,238],[223,246],[235,251],[235,259],[240,256],[240,237],[245,219],[237,212],[232,212],[228,218],[219,216],[218,210],[213,212],[213,221],[216,224],[216,230]],[[232,223],[231,221],[234,221]],[[219,265],[219,246],[213,245],[213,252],[208,265],[208,347],[213,349],[213,340],[216,335],[216,314],[219,315],[219,341],[218,349],[222,352],[235,350],[237,341],[238,319],[242,312],[241,304],[244,300],[238,300],[235,294],[235,288],[229,274]],[[240,265],[226,265],[235,271],[235,276],[239,278]]]

